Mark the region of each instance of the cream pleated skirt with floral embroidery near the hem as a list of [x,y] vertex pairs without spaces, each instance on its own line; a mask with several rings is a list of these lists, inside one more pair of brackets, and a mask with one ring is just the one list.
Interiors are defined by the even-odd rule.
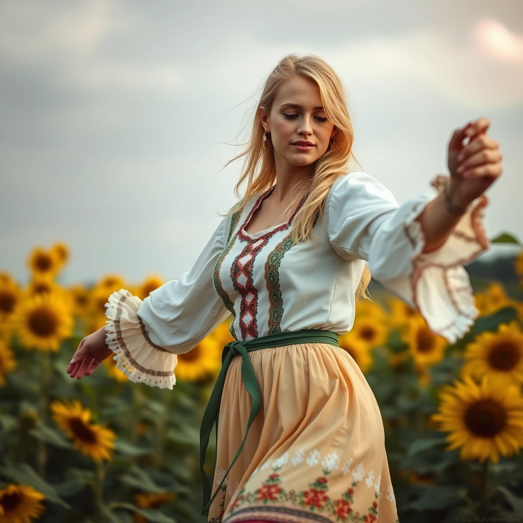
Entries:
[[[209,510],[211,523],[397,523],[374,394],[343,349],[304,343],[249,352],[261,411]],[[236,356],[220,404],[218,487],[251,412]]]

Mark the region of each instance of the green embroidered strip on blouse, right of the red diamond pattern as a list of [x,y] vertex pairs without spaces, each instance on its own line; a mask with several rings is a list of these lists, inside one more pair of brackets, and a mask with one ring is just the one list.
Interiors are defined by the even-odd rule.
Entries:
[[279,268],[285,253],[295,245],[292,233],[289,233],[276,245],[267,256],[265,262],[265,285],[269,300],[269,316],[267,320],[267,334],[280,331],[281,318],[283,316],[283,300],[281,298]]

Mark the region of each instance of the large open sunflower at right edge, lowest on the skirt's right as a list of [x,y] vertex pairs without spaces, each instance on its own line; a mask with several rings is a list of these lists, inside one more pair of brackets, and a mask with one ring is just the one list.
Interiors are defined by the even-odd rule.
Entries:
[[499,454],[510,456],[523,446],[523,397],[515,385],[503,388],[484,376],[481,384],[470,376],[440,391],[441,404],[431,418],[448,431],[449,447],[461,447],[461,459],[492,462]]

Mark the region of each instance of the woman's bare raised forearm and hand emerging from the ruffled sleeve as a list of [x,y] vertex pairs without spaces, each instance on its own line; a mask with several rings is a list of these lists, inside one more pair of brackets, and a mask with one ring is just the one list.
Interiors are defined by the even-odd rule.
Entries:
[[[503,172],[499,144],[486,134],[490,123],[479,118],[452,134],[447,161],[450,179],[416,218],[425,236],[423,253],[435,251],[447,241],[470,203]],[[463,146],[467,138],[469,142]]]

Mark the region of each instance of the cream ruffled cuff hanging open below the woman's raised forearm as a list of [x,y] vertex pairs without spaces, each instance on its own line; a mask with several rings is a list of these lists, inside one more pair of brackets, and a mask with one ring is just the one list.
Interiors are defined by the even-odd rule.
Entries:
[[[437,176],[431,185],[441,192],[447,176]],[[416,218],[428,201],[414,205],[404,222],[404,231],[413,245],[412,272],[407,278],[386,282],[386,287],[411,302],[424,317],[431,331],[455,343],[474,324],[479,315],[468,272],[469,264],[486,251],[489,242],[483,229],[485,195],[474,200],[454,227],[447,241],[435,251],[423,253],[425,237]]]

